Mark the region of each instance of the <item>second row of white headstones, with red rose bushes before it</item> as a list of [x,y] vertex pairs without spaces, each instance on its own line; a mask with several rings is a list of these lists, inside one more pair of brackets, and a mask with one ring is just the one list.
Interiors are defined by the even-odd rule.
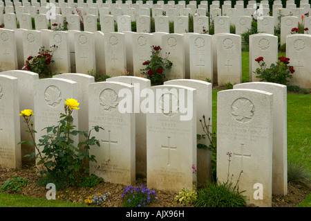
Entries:
[[[311,35],[287,35],[287,57],[295,69],[291,82],[310,88]],[[250,35],[249,81],[258,81],[255,59],[263,57],[267,67],[278,60],[277,37]],[[219,33],[95,33],[51,30],[7,30],[0,28],[0,71],[21,69],[29,56],[36,56],[41,46],[57,46],[53,53],[53,73],[89,73],[121,76],[128,71],[141,76],[142,64],[150,60],[151,46],[162,47],[173,67],[168,79],[207,80],[218,85],[242,82],[241,36]],[[18,53],[17,53],[18,52]]]

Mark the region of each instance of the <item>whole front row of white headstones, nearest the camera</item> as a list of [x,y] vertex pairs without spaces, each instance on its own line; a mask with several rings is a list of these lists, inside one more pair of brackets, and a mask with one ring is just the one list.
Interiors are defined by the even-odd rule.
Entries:
[[[20,168],[21,156],[35,151],[17,144],[30,139],[19,116],[21,109],[34,111],[35,140],[39,142],[46,135],[42,129],[57,125],[65,100],[75,98],[80,109],[73,112],[73,125],[81,131],[104,127],[92,134],[101,146],[90,150],[97,161],[89,163],[90,173],[106,182],[127,185],[135,184],[135,175],[144,175],[149,188],[173,192],[211,180],[211,152],[196,148],[196,134],[204,134],[199,120],[203,114],[212,118],[211,84],[182,79],[150,86],[149,80],[133,76],[94,82],[93,77],[79,73],[39,80],[29,71],[2,72],[0,166]],[[133,95],[126,95],[129,112],[121,112],[124,90]],[[166,95],[170,102],[165,111]],[[271,206],[272,193],[287,194],[286,96],[284,85],[266,82],[218,92],[218,181],[235,183],[239,177],[239,190],[245,191],[248,204]],[[181,120],[186,114],[190,117]],[[200,142],[209,145],[207,140]],[[78,141],[82,138],[75,138]]]

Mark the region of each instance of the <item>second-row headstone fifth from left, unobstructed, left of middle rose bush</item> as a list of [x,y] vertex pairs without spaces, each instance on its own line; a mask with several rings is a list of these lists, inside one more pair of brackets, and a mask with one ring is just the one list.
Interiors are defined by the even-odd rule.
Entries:
[[106,75],[120,76],[126,69],[124,33],[105,33],[104,46]]

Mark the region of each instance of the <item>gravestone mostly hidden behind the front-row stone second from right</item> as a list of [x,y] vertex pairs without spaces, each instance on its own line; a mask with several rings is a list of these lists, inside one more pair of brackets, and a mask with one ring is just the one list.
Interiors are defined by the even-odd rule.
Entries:
[[[211,89],[212,85],[209,82],[202,80],[168,80],[164,82],[164,85],[180,85],[185,87],[191,87],[196,89],[196,130],[197,134],[205,134],[202,128],[200,120],[204,122],[203,115],[206,118],[207,124],[212,125],[212,121],[208,121],[212,118],[211,114]],[[203,123],[204,125],[204,123]],[[209,128],[211,130],[211,128]],[[198,143],[209,145],[209,139],[201,139]],[[197,177],[198,184],[205,184],[207,180],[211,181],[211,152],[209,150],[197,149]]]

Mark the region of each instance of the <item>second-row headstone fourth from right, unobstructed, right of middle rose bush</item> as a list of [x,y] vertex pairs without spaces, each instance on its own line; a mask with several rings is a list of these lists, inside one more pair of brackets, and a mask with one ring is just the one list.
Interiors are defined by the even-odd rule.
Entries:
[[213,83],[213,53],[211,35],[189,37],[190,78],[211,80]]

